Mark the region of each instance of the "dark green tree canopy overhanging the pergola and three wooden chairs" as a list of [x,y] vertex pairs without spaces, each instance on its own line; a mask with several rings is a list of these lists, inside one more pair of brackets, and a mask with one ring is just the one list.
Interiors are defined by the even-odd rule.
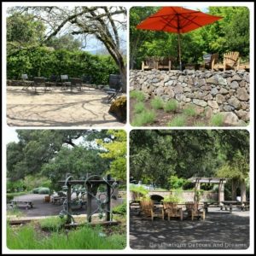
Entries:
[[[137,181],[157,183],[169,189],[169,178],[217,177],[219,170],[230,164],[232,174],[240,172],[247,177],[249,163],[249,136],[247,131],[131,131],[130,173]],[[232,168],[236,166],[236,168]]]

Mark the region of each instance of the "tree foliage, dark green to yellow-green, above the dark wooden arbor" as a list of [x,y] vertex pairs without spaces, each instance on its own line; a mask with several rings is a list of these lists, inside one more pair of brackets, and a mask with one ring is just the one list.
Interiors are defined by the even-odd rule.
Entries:
[[15,182],[28,175],[48,177],[57,187],[67,173],[124,179],[125,131],[17,130],[19,142],[7,145],[7,177]]

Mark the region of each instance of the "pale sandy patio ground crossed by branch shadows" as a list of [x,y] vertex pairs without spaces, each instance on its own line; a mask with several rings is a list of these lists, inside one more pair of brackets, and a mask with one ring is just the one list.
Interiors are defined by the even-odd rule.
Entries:
[[108,113],[103,90],[82,91],[52,88],[22,90],[7,86],[7,124],[9,126],[124,126]]

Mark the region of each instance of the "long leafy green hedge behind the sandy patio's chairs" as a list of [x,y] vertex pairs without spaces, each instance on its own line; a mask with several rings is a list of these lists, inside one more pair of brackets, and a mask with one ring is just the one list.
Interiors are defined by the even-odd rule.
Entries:
[[7,57],[7,79],[20,79],[22,73],[29,78],[49,78],[52,74],[77,78],[85,74],[91,76],[93,84],[108,84],[109,74],[119,73],[119,69],[109,55],[38,47],[21,49]]

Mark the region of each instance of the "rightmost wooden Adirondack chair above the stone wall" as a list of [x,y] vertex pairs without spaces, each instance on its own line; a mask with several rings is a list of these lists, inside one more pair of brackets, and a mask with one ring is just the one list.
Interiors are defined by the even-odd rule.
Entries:
[[223,69],[224,71],[226,69],[237,70],[239,68],[239,62],[240,62],[239,52],[238,51],[230,51],[230,52],[224,54],[223,64],[222,63],[214,64],[212,67],[212,70],[213,69],[217,69],[217,70]]

